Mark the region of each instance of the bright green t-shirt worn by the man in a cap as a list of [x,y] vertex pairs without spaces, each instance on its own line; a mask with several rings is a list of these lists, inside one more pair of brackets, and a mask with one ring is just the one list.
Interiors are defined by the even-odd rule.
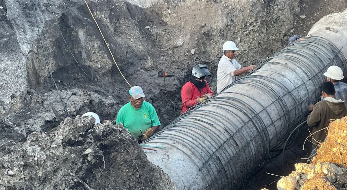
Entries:
[[135,139],[152,126],[161,125],[158,115],[150,102],[143,101],[141,108],[135,109],[131,102],[121,107],[118,111],[116,124],[122,123],[124,128]]

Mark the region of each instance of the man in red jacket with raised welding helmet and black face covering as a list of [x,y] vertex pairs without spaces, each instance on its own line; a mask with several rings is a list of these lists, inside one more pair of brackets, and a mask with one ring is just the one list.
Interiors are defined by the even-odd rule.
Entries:
[[205,81],[206,76],[212,76],[205,64],[193,67],[192,77],[182,86],[182,114],[198,102],[211,98],[213,92]]

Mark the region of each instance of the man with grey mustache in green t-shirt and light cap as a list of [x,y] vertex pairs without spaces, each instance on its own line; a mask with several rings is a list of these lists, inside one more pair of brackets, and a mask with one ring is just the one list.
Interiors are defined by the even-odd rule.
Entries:
[[130,88],[129,94],[130,102],[119,109],[116,124],[122,123],[135,139],[144,141],[161,124],[152,104],[144,101],[145,94],[140,86]]

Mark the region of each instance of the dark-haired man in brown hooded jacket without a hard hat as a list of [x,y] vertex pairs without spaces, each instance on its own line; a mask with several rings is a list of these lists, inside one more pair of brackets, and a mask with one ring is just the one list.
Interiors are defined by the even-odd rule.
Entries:
[[[331,82],[323,82],[321,92],[323,100],[314,105],[311,114],[307,117],[308,126],[313,127],[311,132],[312,142],[318,145],[319,143],[316,141],[322,143],[327,137],[327,130],[322,129],[329,126],[330,119],[338,119],[347,115],[345,101],[335,99],[335,88]],[[318,145],[313,144],[313,150]]]

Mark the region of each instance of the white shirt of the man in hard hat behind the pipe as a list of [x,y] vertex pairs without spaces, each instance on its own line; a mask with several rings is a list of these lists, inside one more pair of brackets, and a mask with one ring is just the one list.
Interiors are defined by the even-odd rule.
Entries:
[[217,69],[217,93],[236,81],[237,76],[234,76],[234,71],[240,68],[241,65],[235,59],[229,59],[225,55],[220,58]]

